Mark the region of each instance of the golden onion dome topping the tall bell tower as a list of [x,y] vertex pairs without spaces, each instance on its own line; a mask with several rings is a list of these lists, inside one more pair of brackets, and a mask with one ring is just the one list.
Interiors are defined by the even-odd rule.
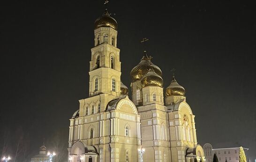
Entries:
[[103,15],[95,20],[94,24],[94,29],[98,29],[100,27],[111,27],[117,30],[117,22],[113,17],[109,15],[107,9],[105,10],[105,13]]

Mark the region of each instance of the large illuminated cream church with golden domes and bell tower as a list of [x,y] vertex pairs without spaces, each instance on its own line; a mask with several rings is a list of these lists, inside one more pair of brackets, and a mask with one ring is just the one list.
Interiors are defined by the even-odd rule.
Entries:
[[129,99],[117,27],[107,10],[95,21],[89,97],[70,119],[68,162],[203,162],[185,89],[174,75],[164,89],[162,71],[146,51],[131,70]]

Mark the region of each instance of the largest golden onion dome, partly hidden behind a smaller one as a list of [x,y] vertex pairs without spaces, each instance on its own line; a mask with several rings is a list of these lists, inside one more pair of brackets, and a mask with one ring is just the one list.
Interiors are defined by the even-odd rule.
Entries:
[[155,71],[155,73],[161,77],[162,76],[161,69],[151,62],[151,58],[149,58],[147,56],[146,51],[144,51],[144,55],[143,55],[143,58],[141,59],[141,62],[138,65],[136,65],[130,73],[132,81],[137,81],[142,79],[142,77],[145,74],[147,74],[148,70],[150,69],[150,65],[152,66],[152,69]]

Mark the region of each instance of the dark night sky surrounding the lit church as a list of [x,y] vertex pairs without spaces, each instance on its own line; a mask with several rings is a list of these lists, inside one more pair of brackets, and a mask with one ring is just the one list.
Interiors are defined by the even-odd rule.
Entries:
[[[31,152],[88,97],[94,21],[103,0],[11,1],[0,5],[1,131],[22,127]],[[202,146],[248,147],[256,158],[256,6],[236,0],[111,0],[118,22],[121,79],[147,51],[186,89]]]

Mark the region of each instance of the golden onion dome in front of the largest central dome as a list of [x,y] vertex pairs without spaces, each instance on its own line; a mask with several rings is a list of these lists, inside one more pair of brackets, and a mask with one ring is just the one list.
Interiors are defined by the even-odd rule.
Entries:
[[163,86],[163,79],[161,76],[155,73],[153,66],[150,66],[147,74],[145,74],[141,79],[142,87],[145,86]]

